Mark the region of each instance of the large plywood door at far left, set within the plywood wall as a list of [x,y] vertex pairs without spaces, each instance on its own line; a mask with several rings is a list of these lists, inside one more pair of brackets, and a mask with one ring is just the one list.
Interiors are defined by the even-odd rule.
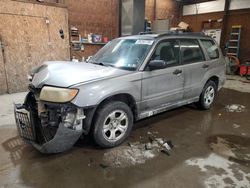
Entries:
[[38,16],[0,14],[0,20],[4,43],[4,54],[0,53],[0,92],[6,92],[6,85],[9,93],[27,91],[30,70],[51,58],[49,25],[46,18]]

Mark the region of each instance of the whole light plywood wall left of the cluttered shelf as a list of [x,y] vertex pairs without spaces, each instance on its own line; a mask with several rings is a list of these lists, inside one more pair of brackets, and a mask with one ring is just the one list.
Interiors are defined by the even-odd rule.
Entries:
[[0,93],[26,91],[27,75],[34,66],[46,60],[69,60],[67,9],[1,0],[0,38],[4,45],[0,53]]

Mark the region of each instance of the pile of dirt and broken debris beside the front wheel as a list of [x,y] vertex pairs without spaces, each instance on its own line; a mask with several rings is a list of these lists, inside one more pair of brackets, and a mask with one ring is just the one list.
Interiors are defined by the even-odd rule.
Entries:
[[102,166],[105,167],[128,167],[136,164],[144,164],[163,152],[169,155],[173,148],[171,141],[162,138],[150,138],[148,143],[128,143],[128,146],[113,148],[104,153]]

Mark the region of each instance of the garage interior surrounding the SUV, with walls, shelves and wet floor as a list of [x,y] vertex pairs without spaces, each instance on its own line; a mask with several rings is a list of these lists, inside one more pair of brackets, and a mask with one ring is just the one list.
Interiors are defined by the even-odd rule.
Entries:
[[[249,0],[1,0],[0,187],[249,188],[249,17]],[[221,48],[226,83],[210,110],[190,104],[140,120],[110,149],[87,136],[41,154],[19,136],[13,103],[32,68],[85,63],[118,37],[166,32],[203,32]],[[152,138],[167,149],[151,152]]]

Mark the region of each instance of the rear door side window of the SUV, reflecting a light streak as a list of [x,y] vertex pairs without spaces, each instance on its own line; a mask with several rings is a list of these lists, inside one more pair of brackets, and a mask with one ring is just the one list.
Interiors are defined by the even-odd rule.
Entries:
[[196,39],[181,39],[180,48],[183,64],[196,63],[205,60],[202,49]]

